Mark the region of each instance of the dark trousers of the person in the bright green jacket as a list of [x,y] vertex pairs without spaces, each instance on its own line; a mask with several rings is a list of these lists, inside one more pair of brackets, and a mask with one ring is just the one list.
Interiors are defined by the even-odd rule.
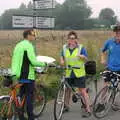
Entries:
[[[23,86],[20,88],[19,95],[22,98],[23,95],[26,96],[26,105],[27,105],[27,120],[34,120],[33,115],[33,92],[35,89],[35,83],[24,83]],[[24,118],[24,108],[21,110],[21,114],[19,114],[20,120],[25,120]]]

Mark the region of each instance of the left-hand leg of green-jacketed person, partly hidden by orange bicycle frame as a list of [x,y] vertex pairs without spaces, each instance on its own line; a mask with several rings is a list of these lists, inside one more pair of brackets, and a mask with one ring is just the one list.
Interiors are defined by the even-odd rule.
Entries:
[[[21,86],[20,87],[20,90],[19,90],[19,96],[20,98],[22,99],[23,95],[25,94],[25,85]],[[20,111],[18,110],[19,114],[19,119],[20,120],[25,120],[25,117],[24,117],[24,107],[22,109],[20,109]]]

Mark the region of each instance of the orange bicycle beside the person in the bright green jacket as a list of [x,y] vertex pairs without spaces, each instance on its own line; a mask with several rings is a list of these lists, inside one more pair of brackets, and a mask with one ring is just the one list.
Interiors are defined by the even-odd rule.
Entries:
[[[7,79],[9,81],[11,80],[12,76],[7,72],[8,71],[3,70],[2,76],[4,77],[4,79]],[[20,98],[17,95],[17,90],[22,85],[23,84],[21,83],[15,85],[8,85],[7,87],[10,88],[10,90],[8,91],[9,94],[0,97],[0,120],[17,120],[18,116],[22,114],[21,109],[25,107],[26,96]],[[42,114],[45,105],[46,105],[45,87],[41,84],[36,84],[33,96],[33,114],[35,118],[38,118]]]

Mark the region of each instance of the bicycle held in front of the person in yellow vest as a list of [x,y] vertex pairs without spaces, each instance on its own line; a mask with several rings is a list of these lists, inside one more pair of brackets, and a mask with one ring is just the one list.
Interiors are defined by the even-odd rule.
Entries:
[[[80,69],[80,67],[61,67],[61,66],[55,66],[56,69],[61,69],[64,71],[65,69]],[[55,101],[54,101],[54,119],[55,120],[60,120],[62,118],[63,110],[64,110],[64,105],[65,105],[65,95],[66,95],[66,88],[70,88],[72,91],[72,101],[74,103],[78,102],[79,100],[81,101],[81,106],[83,109],[86,109],[85,105],[85,100],[82,94],[78,94],[73,86],[70,86],[68,82],[65,80],[65,75],[63,72],[63,76],[61,78],[61,84],[58,89]]]

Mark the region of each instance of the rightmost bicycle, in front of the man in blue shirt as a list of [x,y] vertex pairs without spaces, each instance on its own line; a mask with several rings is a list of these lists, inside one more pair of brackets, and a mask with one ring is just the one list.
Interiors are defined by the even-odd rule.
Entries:
[[112,71],[100,73],[103,79],[105,79],[106,74],[109,76],[110,82],[98,92],[93,103],[93,115],[96,118],[105,117],[111,108],[114,110],[116,106],[120,108],[120,105],[115,104],[117,95],[120,93],[118,87],[120,74]]

